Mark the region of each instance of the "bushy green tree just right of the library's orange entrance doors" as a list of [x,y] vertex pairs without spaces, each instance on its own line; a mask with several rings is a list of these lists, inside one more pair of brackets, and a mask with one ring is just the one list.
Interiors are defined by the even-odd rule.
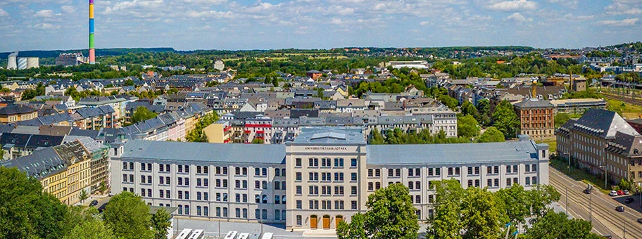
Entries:
[[[367,212],[336,231],[339,238],[417,238],[419,221],[407,187],[394,183],[368,195]],[[359,228],[364,228],[361,231]],[[365,235],[365,236],[364,236]],[[355,236],[355,237],[353,237]]]

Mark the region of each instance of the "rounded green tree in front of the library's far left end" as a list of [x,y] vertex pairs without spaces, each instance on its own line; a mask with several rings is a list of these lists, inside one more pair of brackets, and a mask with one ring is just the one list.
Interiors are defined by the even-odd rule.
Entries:
[[153,238],[149,207],[134,193],[122,192],[111,198],[103,220],[117,238]]

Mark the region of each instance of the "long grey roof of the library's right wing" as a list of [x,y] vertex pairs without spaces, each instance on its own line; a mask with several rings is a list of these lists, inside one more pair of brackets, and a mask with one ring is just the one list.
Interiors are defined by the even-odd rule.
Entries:
[[537,159],[532,141],[367,146],[367,164],[456,164]]

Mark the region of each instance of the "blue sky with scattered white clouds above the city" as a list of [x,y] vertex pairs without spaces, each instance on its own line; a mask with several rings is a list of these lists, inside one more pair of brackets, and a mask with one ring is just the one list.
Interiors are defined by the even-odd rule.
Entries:
[[[642,0],[95,0],[96,48],[605,46]],[[87,48],[88,1],[1,0],[0,51]]]

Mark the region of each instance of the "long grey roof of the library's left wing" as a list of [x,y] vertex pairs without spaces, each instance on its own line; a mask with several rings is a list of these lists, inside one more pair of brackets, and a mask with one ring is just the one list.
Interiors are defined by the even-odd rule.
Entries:
[[284,164],[285,146],[132,140],[125,143],[121,158]]

